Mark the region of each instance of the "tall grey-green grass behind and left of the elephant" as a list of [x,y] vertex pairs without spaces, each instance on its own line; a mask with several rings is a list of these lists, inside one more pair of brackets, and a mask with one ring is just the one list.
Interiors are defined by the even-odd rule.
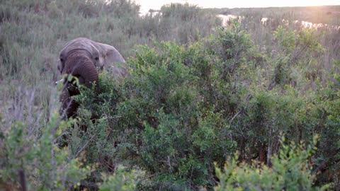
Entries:
[[[123,57],[135,45],[153,40],[186,43],[208,35],[219,24],[213,13],[171,4],[157,16],[139,16],[131,1],[3,1],[0,6],[0,98],[13,98],[18,86],[35,88],[37,100],[57,95],[58,54],[76,37],[116,47]],[[38,104],[40,104],[38,102]],[[58,104],[58,103],[53,103]]]

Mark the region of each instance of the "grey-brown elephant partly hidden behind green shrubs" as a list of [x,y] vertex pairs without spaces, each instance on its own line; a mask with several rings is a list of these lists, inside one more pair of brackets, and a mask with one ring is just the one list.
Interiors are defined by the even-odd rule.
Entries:
[[78,88],[72,81],[67,81],[67,75],[76,76],[79,84],[91,88],[91,85],[98,81],[98,71],[102,69],[108,69],[119,79],[123,79],[128,73],[125,59],[115,47],[94,42],[86,37],[78,37],[64,45],[57,69],[64,76],[61,80],[63,88],[60,95],[62,118],[76,117],[79,107],[72,99],[72,96],[79,94]]

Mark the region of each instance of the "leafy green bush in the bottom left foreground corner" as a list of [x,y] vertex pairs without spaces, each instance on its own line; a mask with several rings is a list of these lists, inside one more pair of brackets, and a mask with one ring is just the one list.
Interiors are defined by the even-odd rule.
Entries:
[[[13,103],[12,112],[16,119],[7,119],[5,127],[1,126],[6,130],[0,134],[0,184],[22,190],[23,186],[28,190],[77,187],[90,175],[94,166],[84,165],[81,156],[69,154],[67,149],[60,149],[56,143],[62,130],[71,127],[75,121],[61,121],[56,111],[52,111],[47,120],[33,118],[38,114],[37,110],[33,109],[35,114],[21,110],[21,107],[32,107],[30,97],[26,96],[21,94],[18,100],[22,99],[22,102],[18,105]],[[44,128],[40,129],[40,125]]]

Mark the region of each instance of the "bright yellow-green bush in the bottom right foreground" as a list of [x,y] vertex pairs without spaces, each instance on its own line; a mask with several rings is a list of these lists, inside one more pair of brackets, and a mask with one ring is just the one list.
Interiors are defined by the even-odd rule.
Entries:
[[[284,140],[283,140],[284,141]],[[216,169],[220,183],[215,190],[327,190],[329,185],[314,187],[310,158],[316,151],[314,144],[283,144],[273,156],[272,166],[263,163],[238,163],[230,159],[221,170]]]

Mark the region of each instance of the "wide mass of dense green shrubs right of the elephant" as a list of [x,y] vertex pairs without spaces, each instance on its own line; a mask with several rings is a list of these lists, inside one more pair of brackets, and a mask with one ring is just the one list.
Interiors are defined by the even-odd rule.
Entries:
[[[128,62],[128,79],[118,83],[104,72],[96,87],[100,93],[84,90],[78,98],[79,113],[85,119],[81,125],[91,127],[81,139],[86,137],[86,142],[98,134],[87,149],[96,156],[90,163],[106,167],[124,163],[141,169],[149,180],[139,181],[140,188],[211,189],[217,180],[213,163],[224,166],[235,149],[240,152],[239,161],[255,159],[276,166],[280,148],[287,152],[290,148],[280,144],[282,135],[307,144],[312,144],[316,133],[328,137],[319,129],[326,124],[319,121],[319,105],[313,103],[317,94],[300,93],[289,85],[259,90],[246,76],[261,67],[252,60],[256,54],[237,24],[188,46],[161,42],[154,48],[139,47]],[[289,53],[282,50],[282,54]],[[99,118],[95,123],[93,115]],[[98,161],[103,154],[109,163]],[[306,166],[307,158],[299,163]],[[285,164],[279,165],[287,170],[282,167]],[[315,162],[310,168],[318,165]],[[304,169],[297,171],[303,174]],[[284,177],[283,181],[290,180]],[[308,181],[311,187],[314,178]]]

